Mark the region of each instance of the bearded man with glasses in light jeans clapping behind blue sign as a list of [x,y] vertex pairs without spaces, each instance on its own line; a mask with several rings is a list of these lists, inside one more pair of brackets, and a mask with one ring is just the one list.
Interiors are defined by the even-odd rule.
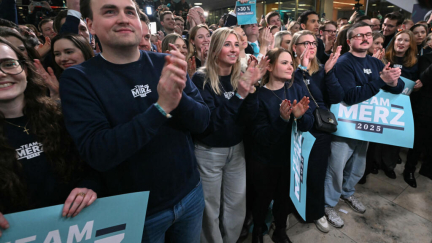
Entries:
[[[372,29],[369,24],[359,22],[347,32],[350,51],[339,57],[334,66],[347,105],[355,105],[370,99],[380,89],[400,94],[404,83],[399,78],[401,70],[390,68],[367,54],[372,45]],[[344,221],[334,207],[339,199],[344,200],[354,211],[364,213],[366,208],[354,196],[355,185],[363,176],[366,166],[368,142],[333,136],[331,155],[325,179],[325,214],[328,222],[341,228]]]

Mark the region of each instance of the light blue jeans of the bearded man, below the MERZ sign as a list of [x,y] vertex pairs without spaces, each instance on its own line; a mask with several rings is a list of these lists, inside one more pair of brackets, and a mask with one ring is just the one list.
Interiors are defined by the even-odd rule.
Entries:
[[339,198],[348,198],[362,178],[366,167],[368,142],[333,136],[324,182],[325,206],[334,207]]

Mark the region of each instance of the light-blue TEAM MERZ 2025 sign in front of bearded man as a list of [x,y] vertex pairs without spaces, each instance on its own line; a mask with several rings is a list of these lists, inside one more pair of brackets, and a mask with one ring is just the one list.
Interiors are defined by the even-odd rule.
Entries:
[[347,106],[332,105],[340,137],[412,148],[414,121],[410,98],[380,90],[374,97]]

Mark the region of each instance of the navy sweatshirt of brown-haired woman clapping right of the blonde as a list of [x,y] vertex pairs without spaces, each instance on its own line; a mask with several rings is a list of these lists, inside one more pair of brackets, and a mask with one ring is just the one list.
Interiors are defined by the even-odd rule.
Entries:
[[[270,166],[286,167],[290,165],[291,128],[294,115],[291,114],[290,122],[284,121],[280,116],[281,99],[301,100],[309,97],[305,85],[294,82],[291,87],[286,83],[279,90],[269,90],[261,87],[257,90],[259,109],[253,121],[252,136],[254,160]],[[285,95],[284,95],[285,89]],[[312,101],[311,101],[312,103]],[[297,120],[300,131],[306,132],[312,129],[314,117],[311,108]]]

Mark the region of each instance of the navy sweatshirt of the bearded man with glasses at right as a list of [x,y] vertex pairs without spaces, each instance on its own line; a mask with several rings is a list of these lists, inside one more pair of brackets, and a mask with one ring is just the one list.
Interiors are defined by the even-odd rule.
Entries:
[[335,64],[334,71],[345,92],[343,101],[354,105],[370,99],[380,89],[393,94],[400,94],[405,83],[399,79],[396,87],[388,86],[380,78],[384,64],[375,57],[356,57],[351,52],[344,53]]

